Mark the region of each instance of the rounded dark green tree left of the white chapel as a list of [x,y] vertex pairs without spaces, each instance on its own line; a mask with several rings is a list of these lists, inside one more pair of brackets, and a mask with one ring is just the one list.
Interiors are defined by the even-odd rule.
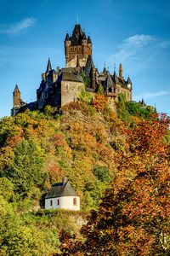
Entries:
[[23,139],[14,150],[14,161],[6,176],[14,183],[14,191],[21,197],[29,195],[34,187],[42,187],[44,172],[41,149]]

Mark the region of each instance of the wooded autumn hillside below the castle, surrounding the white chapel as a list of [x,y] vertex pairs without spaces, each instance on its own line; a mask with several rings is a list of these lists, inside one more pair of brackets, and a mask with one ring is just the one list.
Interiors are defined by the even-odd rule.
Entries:
[[[59,230],[78,232],[74,221],[61,221],[63,214],[87,216],[90,209],[99,207],[113,178],[122,184],[118,165],[126,148],[123,127],[152,119],[154,113],[154,108],[126,102],[123,95],[115,111],[105,96],[92,99],[82,92],[78,102],[59,111],[47,106],[43,113],[26,111],[1,119],[0,253],[56,253]],[[165,141],[169,142],[168,134]],[[81,197],[82,213],[37,213],[46,191],[64,176]],[[130,171],[123,176],[132,178]]]

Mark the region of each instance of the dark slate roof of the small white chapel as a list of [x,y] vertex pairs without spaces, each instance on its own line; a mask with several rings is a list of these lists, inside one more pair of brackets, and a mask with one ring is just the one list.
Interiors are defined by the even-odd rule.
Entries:
[[54,198],[60,196],[79,196],[77,191],[71,187],[71,183],[55,183],[51,189],[49,189],[45,198]]

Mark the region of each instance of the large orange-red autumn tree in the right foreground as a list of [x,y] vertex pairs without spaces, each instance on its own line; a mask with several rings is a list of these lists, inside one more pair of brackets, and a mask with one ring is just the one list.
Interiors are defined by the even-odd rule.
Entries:
[[162,140],[169,124],[161,115],[124,129],[117,177],[82,227],[85,242],[75,242],[74,255],[169,255],[170,175]]

